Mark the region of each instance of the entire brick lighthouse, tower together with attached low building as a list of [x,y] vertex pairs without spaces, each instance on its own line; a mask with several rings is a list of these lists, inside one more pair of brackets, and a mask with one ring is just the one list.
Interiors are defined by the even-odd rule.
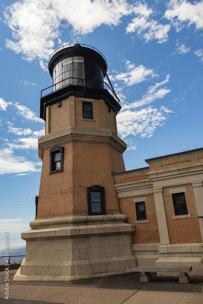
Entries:
[[22,233],[26,258],[14,280],[70,281],[142,265],[203,275],[203,149],[125,171],[121,105],[103,81],[105,57],[74,44],[54,52],[48,67],[37,218]]

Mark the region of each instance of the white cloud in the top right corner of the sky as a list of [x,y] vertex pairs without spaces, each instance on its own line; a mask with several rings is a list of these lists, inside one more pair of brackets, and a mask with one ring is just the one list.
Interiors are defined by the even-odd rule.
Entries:
[[171,0],[168,3],[164,17],[170,19],[177,31],[181,29],[182,22],[188,22],[188,26],[195,25],[196,29],[203,28],[203,2],[187,2],[186,0]]

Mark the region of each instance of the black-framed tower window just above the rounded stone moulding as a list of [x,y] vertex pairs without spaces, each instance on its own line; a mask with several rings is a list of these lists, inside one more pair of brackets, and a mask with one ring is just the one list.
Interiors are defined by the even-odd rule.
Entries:
[[105,215],[104,187],[94,185],[87,188],[87,202],[89,215]]

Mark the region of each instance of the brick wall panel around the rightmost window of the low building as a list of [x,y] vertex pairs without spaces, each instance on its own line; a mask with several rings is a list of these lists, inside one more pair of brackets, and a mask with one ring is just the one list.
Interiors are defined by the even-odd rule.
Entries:
[[[174,208],[172,194],[169,194],[169,189],[186,187],[185,199],[187,203],[188,214],[191,218],[173,219]],[[170,244],[181,243],[201,243],[201,233],[199,220],[194,200],[194,193],[191,184],[171,186],[163,188],[163,200],[166,212],[166,221],[168,226]]]

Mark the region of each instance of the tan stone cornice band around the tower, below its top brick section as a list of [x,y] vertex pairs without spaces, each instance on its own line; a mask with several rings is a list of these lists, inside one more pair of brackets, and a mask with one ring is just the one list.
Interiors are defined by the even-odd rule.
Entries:
[[64,140],[95,140],[110,143],[119,152],[127,149],[126,143],[109,129],[87,128],[81,126],[69,126],[54,131],[38,139],[38,156],[42,159],[42,150],[50,145],[58,145]]

